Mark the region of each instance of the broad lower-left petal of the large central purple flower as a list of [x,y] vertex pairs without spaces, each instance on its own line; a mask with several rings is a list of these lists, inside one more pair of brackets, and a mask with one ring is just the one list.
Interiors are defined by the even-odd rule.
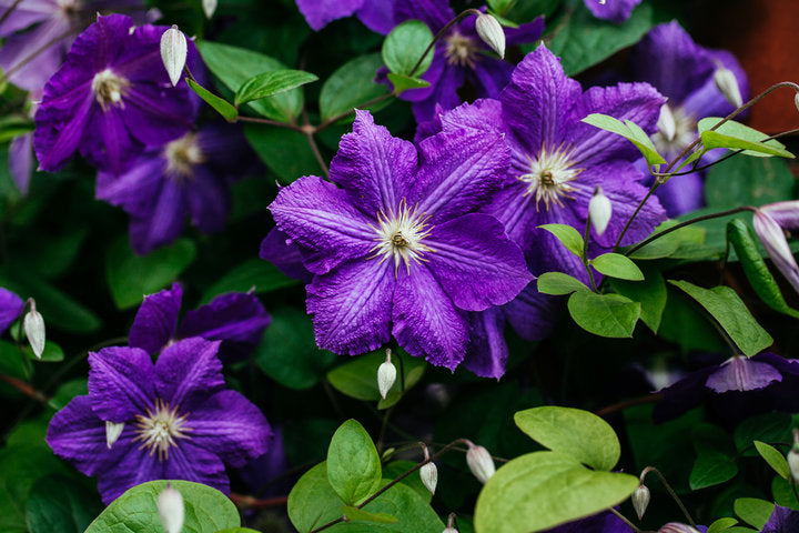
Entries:
[[355,259],[316,275],[307,285],[307,312],[313,314],[316,344],[350,355],[385,344],[391,338],[396,275],[394,262],[380,258]]

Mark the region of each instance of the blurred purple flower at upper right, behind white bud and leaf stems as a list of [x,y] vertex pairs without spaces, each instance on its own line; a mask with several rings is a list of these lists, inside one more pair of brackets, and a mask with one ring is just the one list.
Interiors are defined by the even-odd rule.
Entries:
[[[714,73],[720,67],[729,69],[746,101],[749,82],[736,58],[726,50],[708,50],[694,42],[677,21],[656,26],[633,51],[635,80],[655,86],[668,102],[664,105],[657,133],[653,141],[658,152],[671,161],[697,139],[697,123],[705,117],[726,117],[735,107],[716,87]],[[711,151],[701,164],[722,155]],[[646,163],[643,164],[646,169]],[[704,202],[701,173],[675,177],[655,192],[669,217],[700,208]]]

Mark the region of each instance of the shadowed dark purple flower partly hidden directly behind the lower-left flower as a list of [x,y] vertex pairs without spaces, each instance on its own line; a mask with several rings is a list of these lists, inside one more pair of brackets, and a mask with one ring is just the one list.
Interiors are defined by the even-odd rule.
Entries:
[[178,328],[182,296],[178,283],[144,296],[128,335],[130,346],[154,355],[178,340],[202,336],[222,341],[219,356],[229,363],[249,358],[272,322],[254,294],[231,292],[189,311]]

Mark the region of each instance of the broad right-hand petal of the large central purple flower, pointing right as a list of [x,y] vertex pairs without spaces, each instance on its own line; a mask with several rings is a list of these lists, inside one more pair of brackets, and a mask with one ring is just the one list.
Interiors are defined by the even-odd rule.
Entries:
[[488,214],[465,214],[438,224],[425,243],[434,250],[425,257],[429,271],[463,310],[507,303],[533,280],[519,248]]

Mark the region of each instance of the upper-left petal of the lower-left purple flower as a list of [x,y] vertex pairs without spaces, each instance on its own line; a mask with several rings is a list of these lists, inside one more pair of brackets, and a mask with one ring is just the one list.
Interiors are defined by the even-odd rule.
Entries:
[[125,422],[153,406],[158,372],[139,348],[104,348],[89,354],[89,398],[100,419]]

